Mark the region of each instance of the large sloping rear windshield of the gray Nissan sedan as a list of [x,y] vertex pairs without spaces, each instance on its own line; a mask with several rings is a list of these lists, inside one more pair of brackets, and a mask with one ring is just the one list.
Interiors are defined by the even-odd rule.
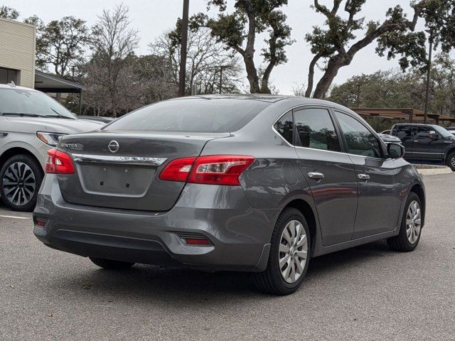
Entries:
[[269,104],[247,99],[174,99],[138,109],[103,130],[228,133],[241,129]]

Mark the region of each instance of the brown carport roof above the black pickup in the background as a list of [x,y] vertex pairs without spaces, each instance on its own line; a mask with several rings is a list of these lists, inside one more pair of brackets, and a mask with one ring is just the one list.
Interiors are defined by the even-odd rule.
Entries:
[[[424,112],[412,108],[350,108],[363,117],[382,117],[385,119],[407,119],[410,123],[413,121],[423,121]],[[428,114],[428,118],[439,124],[439,121],[455,122],[455,117],[444,116],[439,114]]]

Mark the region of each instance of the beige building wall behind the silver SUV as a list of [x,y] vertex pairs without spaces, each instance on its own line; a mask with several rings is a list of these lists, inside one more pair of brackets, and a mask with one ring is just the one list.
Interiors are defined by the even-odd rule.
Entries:
[[35,85],[35,26],[0,18],[0,84]]

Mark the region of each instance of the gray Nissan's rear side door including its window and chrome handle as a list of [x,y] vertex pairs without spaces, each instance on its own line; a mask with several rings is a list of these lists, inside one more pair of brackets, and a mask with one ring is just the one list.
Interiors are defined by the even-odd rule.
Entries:
[[357,208],[353,162],[342,153],[328,108],[294,110],[296,152],[310,185],[325,246],[350,240]]

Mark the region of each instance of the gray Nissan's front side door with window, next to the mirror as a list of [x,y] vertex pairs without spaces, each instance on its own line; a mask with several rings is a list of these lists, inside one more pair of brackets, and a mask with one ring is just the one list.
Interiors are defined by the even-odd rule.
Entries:
[[401,185],[397,181],[401,168],[385,157],[379,139],[363,122],[338,110],[335,117],[358,183],[353,239],[395,229],[401,207]]

